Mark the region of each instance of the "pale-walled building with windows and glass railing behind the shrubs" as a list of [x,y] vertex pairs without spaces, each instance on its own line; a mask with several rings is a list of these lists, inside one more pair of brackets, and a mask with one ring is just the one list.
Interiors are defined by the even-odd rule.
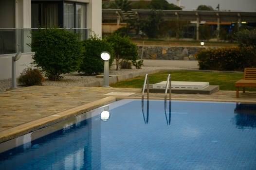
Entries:
[[19,51],[16,75],[31,66],[31,31],[56,26],[101,37],[101,0],[0,0],[0,80],[11,78],[11,57]]

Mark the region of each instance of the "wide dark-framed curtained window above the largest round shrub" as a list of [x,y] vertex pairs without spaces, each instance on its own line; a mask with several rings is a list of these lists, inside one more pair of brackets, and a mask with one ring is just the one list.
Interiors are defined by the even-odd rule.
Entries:
[[32,1],[31,25],[86,28],[86,4],[76,2]]

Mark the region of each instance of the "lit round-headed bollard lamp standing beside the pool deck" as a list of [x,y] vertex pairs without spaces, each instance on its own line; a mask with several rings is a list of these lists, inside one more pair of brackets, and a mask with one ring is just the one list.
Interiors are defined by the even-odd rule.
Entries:
[[103,51],[100,54],[100,57],[104,60],[104,77],[103,77],[103,87],[109,87],[110,86],[110,53],[107,51]]

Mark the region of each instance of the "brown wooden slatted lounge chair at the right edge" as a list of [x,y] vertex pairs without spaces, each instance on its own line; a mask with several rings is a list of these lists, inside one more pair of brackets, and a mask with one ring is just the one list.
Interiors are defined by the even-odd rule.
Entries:
[[245,93],[245,87],[256,87],[256,68],[244,68],[243,79],[238,80],[235,86],[237,87],[237,98],[239,97],[239,87],[243,87],[243,93]]

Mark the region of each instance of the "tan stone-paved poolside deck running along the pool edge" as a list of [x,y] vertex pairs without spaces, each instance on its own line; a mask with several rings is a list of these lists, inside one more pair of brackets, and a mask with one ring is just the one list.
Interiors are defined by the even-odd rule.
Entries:
[[[161,62],[161,61],[160,61]],[[180,66],[178,66],[180,67]],[[111,97],[114,96],[114,97]],[[141,89],[81,86],[30,86],[0,93],[0,143],[115,100],[141,98]],[[211,95],[172,94],[173,100],[256,102],[256,92],[219,91]],[[150,99],[164,94],[150,93]],[[146,96],[145,96],[146,99]]]

